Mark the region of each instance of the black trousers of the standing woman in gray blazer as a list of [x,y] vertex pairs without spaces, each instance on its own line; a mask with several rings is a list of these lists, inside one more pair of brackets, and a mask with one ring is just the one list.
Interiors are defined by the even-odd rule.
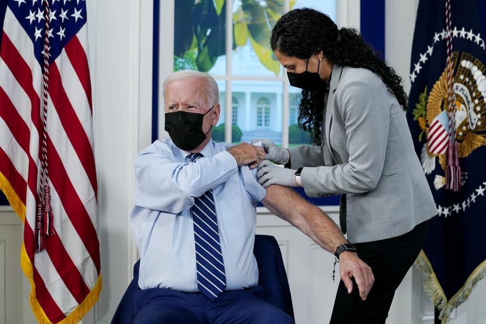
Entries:
[[366,243],[353,243],[358,256],[371,267],[375,283],[368,297],[362,301],[358,286],[347,293],[343,281],[339,283],[332,310],[331,324],[385,323],[393,295],[422,249],[427,237],[427,222],[396,238]]

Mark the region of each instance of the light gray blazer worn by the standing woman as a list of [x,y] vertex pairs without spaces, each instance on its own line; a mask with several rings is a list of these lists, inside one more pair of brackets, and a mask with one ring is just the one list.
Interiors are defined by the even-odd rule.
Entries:
[[321,146],[289,149],[304,167],[309,197],[341,194],[339,219],[351,243],[405,234],[437,214],[405,112],[381,78],[334,65]]

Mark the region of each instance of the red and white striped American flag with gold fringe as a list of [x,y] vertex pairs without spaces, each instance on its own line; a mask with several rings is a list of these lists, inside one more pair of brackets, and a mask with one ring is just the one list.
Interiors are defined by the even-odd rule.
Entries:
[[8,0],[0,188],[24,222],[20,263],[35,317],[77,323],[101,290],[84,0]]

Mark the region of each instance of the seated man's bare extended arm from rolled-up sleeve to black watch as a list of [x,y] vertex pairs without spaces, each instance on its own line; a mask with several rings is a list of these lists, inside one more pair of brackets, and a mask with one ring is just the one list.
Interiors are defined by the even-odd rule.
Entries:
[[273,214],[291,223],[320,247],[334,254],[336,247],[346,243],[341,230],[320,208],[310,204],[294,190],[269,186],[262,203]]

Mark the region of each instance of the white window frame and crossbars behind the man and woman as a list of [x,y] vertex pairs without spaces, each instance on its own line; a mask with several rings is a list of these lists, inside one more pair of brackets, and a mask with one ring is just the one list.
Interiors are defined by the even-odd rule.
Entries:
[[[284,0],[284,12],[289,10],[290,0]],[[338,27],[352,27],[359,31],[360,27],[360,0],[336,0],[336,23]],[[227,0],[226,21],[233,21],[233,1]],[[160,5],[160,55],[159,55],[159,114],[158,114],[158,137],[168,137],[164,130],[164,98],[162,84],[165,78],[174,71],[174,0],[162,1]],[[222,102],[232,102],[233,93],[231,85],[233,81],[277,81],[282,83],[282,147],[289,147],[289,81],[285,69],[281,76],[256,77],[232,75],[231,51],[233,45],[233,29],[226,28],[226,74],[212,75],[216,80],[226,82],[225,99]],[[225,105],[225,141],[231,142],[233,104]],[[280,109],[280,107],[277,107]]]

